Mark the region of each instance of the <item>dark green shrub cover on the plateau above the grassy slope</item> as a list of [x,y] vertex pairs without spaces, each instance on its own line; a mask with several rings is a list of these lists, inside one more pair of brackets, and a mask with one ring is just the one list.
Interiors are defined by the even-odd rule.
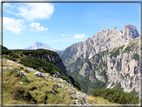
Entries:
[[[66,76],[64,73],[62,73],[58,67],[56,67],[54,65],[54,63],[49,63],[47,61],[44,61],[42,59],[40,59],[41,56],[43,56],[44,54],[48,54],[48,55],[56,55],[58,56],[58,54],[56,52],[53,51],[48,51],[48,50],[44,50],[44,49],[38,49],[38,50],[8,50],[6,47],[3,47],[3,51],[2,51],[3,57],[13,60],[13,61],[17,61],[21,64],[23,64],[24,66],[28,66],[28,67],[32,67],[36,70],[39,70],[40,72],[44,72],[44,73],[49,73],[50,75],[53,74],[61,74],[61,78],[68,81],[69,82],[69,77],[72,78],[71,76]],[[26,56],[31,54],[31,56]],[[38,55],[38,56],[37,56]],[[37,56],[37,57],[35,57]],[[41,70],[41,68],[43,70]],[[79,83],[73,80],[73,85],[78,88],[79,90],[81,90],[81,87],[79,85]]]

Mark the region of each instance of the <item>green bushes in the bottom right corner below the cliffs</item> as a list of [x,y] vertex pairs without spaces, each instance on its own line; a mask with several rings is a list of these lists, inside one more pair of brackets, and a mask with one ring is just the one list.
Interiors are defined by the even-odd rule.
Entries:
[[139,98],[129,93],[124,93],[118,89],[96,89],[91,91],[91,95],[103,97],[110,102],[116,102],[119,104],[138,104]]

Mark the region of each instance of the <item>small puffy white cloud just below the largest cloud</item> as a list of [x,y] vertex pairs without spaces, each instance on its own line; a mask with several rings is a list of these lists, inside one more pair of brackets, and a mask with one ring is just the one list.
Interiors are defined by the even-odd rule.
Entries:
[[40,23],[33,22],[30,24],[32,27],[31,31],[46,31],[48,28],[44,28],[43,26],[40,26]]

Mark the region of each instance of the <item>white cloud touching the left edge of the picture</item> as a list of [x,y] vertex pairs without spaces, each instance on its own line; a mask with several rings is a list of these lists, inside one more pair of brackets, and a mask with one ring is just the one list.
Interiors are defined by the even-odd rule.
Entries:
[[20,31],[25,29],[26,25],[24,25],[24,20],[22,19],[16,20],[14,18],[3,17],[3,27],[13,33],[20,34]]

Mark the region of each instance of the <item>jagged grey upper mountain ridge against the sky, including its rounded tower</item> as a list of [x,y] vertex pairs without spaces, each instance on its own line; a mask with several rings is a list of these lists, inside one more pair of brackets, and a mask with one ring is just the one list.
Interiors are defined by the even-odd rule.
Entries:
[[78,57],[81,59],[90,59],[95,54],[123,45],[127,41],[138,37],[140,34],[136,27],[131,24],[125,25],[123,31],[118,31],[117,27],[113,29],[102,29],[92,38],[84,42],[79,42],[66,48],[60,55],[65,66],[74,62]]

